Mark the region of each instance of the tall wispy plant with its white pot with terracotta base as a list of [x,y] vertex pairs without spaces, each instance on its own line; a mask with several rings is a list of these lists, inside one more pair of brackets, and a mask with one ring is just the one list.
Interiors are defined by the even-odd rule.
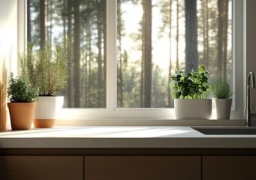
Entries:
[[53,46],[46,42],[41,49],[29,43],[27,54],[20,55],[22,74],[29,77],[32,86],[39,87],[39,101],[35,110],[35,127],[53,127],[58,111],[62,108],[64,97],[56,92],[67,86],[67,61],[70,55],[71,40],[63,37]]

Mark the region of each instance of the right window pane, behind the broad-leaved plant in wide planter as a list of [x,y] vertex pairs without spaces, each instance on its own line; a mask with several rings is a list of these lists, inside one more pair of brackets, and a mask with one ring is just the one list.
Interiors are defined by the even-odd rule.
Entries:
[[231,0],[117,2],[118,107],[173,107],[177,68],[204,65],[232,87]]

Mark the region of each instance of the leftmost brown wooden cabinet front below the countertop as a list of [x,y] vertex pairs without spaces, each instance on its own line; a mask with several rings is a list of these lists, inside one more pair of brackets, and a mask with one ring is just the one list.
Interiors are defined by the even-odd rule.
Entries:
[[83,180],[83,156],[0,156],[0,179]]

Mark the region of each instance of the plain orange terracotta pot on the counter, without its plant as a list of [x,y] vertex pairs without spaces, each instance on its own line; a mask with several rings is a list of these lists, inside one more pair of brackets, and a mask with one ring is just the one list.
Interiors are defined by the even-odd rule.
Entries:
[[11,129],[29,130],[35,115],[36,103],[8,103]]

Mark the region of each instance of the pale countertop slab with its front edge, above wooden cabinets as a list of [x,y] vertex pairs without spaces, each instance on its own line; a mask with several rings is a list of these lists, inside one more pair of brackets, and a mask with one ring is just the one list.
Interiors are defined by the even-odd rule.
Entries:
[[256,148],[256,135],[179,126],[79,126],[0,132],[0,148]]

